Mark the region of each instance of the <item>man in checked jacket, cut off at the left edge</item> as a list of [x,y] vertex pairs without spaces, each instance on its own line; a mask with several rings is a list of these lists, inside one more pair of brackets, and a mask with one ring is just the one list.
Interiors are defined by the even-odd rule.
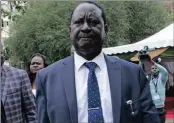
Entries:
[[37,123],[36,105],[27,73],[3,65],[3,59],[1,51],[1,105],[6,123]]

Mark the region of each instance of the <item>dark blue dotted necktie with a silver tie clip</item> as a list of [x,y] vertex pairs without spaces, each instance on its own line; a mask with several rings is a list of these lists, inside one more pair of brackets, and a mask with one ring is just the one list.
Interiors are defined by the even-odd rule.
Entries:
[[95,75],[97,66],[94,62],[86,62],[85,66],[89,69],[88,74],[88,123],[104,123],[100,92]]

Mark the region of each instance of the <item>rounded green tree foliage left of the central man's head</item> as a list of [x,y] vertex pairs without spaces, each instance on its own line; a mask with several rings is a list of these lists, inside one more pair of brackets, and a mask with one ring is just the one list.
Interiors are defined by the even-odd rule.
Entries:
[[68,36],[70,11],[73,3],[39,2],[13,24],[8,45],[12,55],[27,61],[36,52],[47,56],[51,62],[69,55]]

